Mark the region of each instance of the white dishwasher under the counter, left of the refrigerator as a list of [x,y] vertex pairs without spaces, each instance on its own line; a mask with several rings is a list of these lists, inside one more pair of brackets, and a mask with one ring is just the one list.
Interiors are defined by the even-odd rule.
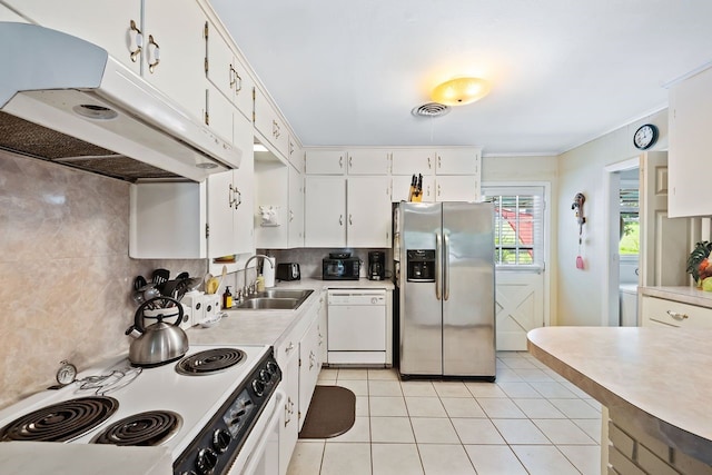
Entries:
[[328,291],[327,363],[386,364],[386,290]]

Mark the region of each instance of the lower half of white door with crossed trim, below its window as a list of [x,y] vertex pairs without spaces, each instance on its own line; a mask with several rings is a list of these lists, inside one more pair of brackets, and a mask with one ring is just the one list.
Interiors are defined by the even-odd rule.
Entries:
[[543,295],[542,273],[497,271],[495,287],[497,350],[526,350],[526,333],[544,326]]

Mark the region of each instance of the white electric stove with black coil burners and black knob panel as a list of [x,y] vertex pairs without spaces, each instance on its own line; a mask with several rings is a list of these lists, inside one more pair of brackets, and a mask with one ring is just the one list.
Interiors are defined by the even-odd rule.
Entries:
[[117,358],[0,410],[0,441],[160,445],[175,474],[233,473],[263,413],[276,412],[280,379],[269,346],[192,345],[180,360],[150,368]]

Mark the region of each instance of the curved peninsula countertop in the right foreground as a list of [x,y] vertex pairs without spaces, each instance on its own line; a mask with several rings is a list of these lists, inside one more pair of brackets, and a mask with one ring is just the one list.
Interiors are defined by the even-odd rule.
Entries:
[[669,446],[712,465],[712,330],[546,327],[530,353]]

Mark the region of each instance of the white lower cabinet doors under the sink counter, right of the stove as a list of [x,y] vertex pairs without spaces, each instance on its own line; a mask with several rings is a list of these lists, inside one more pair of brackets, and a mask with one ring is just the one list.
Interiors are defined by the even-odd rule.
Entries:
[[277,364],[281,369],[281,387],[286,396],[279,425],[280,475],[284,475],[289,466],[322,369],[322,299],[323,295],[318,296],[317,301],[306,310],[276,349]]

